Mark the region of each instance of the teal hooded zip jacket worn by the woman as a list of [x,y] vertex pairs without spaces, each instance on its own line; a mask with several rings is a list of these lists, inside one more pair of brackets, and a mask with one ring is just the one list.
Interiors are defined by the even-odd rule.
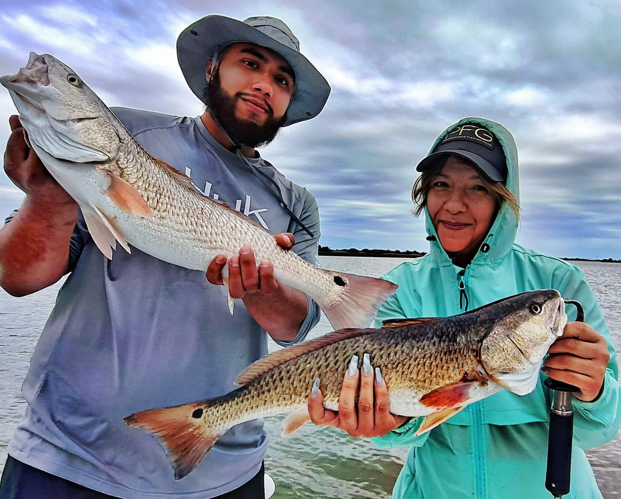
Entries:
[[[509,130],[493,121],[466,117],[438,136],[431,150],[456,126],[476,122],[491,130],[507,158],[507,188],[519,201],[517,147]],[[438,241],[425,209],[430,252],[402,263],[382,277],[396,283],[395,295],[379,310],[376,327],[392,318],[444,317],[523,291],[554,288],[565,300],[578,300],[585,322],[602,334],[610,362],[599,397],[574,398],[571,492],[565,499],[601,498],[583,449],[614,439],[621,423],[619,367],[610,332],[581,270],[515,244],[518,220],[502,203],[486,239],[464,269],[453,265]],[[567,306],[569,321],[576,310]],[[545,489],[548,408],[551,395],[541,373],[535,390],[518,396],[502,390],[473,403],[436,428],[415,437],[422,418],[372,441],[379,447],[411,446],[397,478],[398,499],[550,499]]]

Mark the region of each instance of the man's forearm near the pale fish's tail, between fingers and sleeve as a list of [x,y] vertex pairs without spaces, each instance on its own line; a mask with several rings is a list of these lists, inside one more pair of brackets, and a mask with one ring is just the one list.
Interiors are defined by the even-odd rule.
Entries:
[[278,341],[296,337],[309,313],[309,302],[302,291],[279,285],[268,296],[247,295],[243,302],[250,315],[270,336]]

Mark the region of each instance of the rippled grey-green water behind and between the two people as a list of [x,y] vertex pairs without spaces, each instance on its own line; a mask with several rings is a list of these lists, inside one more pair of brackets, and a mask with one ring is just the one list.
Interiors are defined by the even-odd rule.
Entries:
[[[321,257],[325,268],[378,277],[405,260]],[[577,262],[604,309],[617,352],[621,351],[621,264]],[[55,301],[60,284],[25,298],[0,289],[0,470],[7,446],[24,412],[20,386],[30,355]],[[331,331],[322,316],[309,337]],[[278,346],[270,342],[270,350]],[[280,436],[282,416],[266,419],[271,445],[266,470],[276,482],[274,499],[317,497],[389,498],[405,449],[380,451],[363,440],[332,428],[306,425],[294,436]],[[621,498],[621,436],[594,451],[589,460],[606,499]]]

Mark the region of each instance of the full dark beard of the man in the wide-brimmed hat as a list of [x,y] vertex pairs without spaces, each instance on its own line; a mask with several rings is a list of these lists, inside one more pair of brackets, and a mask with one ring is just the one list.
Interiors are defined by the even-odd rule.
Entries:
[[234,97],[224,93],[224,89],[222,89],[220,84],[219,69],[220,67],[218,66],[214,76],[205,88],[206,99],[204,101],[209,102],[209,114],[224,129],[234,144],[253,148],[270,144],[278,134],[278,130],[283,126],[283,123],[287,121],[287,113],[285,112],[280,119],[270,114],[262,125],[248,119],[239,119],[235,116],[235,107],[242,93],[237,93]]

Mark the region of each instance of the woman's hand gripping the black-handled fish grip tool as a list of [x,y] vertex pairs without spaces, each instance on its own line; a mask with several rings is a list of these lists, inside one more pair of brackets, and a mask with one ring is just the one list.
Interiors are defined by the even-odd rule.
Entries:
[[578,387],[576,398],[587,402],[599,395],[610,360],[604,337],[585,323],[568,323],[563,336],[548,350],[543,371],[551,378]]

